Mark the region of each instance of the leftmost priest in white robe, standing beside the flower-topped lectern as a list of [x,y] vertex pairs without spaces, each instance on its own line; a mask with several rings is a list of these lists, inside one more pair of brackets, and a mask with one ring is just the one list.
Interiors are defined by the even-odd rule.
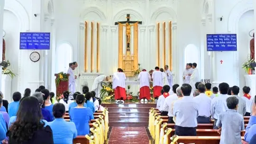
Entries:
[[73,63],[69,63],[69,68],[67,72],[69,74],[68,90],[71,92],[71,94],[75,93],[75,76],[74,76],[73,70],[74,70]]

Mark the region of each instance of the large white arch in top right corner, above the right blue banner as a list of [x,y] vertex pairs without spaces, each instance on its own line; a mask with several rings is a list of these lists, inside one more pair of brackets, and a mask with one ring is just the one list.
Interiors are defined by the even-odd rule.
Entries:
[[237,32],[238,21],[241,18],[241,16],[249,10],[254,10],[253,1],[254,0],[241,0],[231,10],[231,12],[229,14],[229,19],[228,19],[228,31],[229,32],[233,32],[233,33]]

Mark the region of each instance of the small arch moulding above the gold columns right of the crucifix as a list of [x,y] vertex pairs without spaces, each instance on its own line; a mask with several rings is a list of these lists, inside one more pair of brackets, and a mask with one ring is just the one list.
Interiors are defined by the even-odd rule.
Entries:
[[167,12],[171,17],[173,21],[177,20],[177,15],[175,11],[170,7],[161,7],[155,10],[155,12],[151,16],[151,21],[155,21],[156,18],[163,12]]

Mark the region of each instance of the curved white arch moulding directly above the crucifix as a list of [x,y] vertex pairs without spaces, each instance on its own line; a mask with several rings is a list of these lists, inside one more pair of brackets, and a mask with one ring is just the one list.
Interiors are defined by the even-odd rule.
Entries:
[[117,22],[119,20],[119,18],[121,16],[123,16],[124,14],[131,14],[131,15],[134,15],[135,17],[137,17],[139,20],[143,21],[142,24],[145,24],[145,20],[144,18],[142,17],[142,15],[136,11],[136,10],[133,10],[133,9],[123,9],[119,12],[117,12],[117,14],[112,18],[112,23],[114,24],[115,22]]

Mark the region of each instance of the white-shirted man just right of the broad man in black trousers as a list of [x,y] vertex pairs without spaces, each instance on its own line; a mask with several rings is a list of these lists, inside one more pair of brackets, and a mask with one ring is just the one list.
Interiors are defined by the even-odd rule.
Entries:
[[197,86],[200,94],[194,97],[195,101],[198,103],[198,113],[197,117],[198,124],[210,124],[210,103],[211,99],[205,95],[205,86],[204,84],[199,84]]

